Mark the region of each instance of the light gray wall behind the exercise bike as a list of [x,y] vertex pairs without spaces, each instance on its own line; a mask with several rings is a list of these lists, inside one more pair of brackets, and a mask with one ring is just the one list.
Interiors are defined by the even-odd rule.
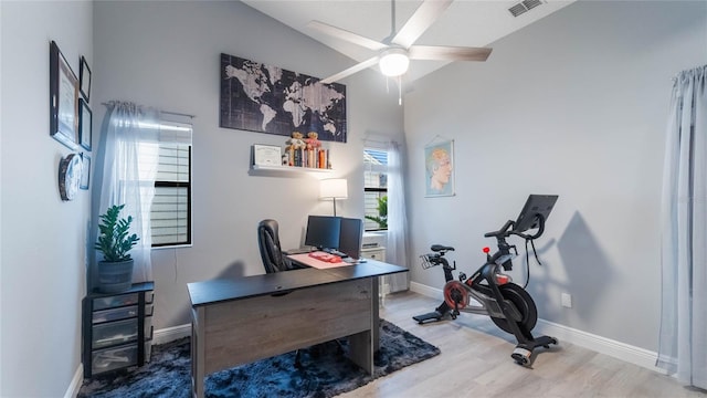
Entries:
[[[531,261],[539,316],[657,350],[671,78],[707,62],[707,3],[579,1],[493,48],[486,63],[452,64],[405,96],[411,254],[454,245],[469,274],[493,243],[484,232],[515,219],[528,193],[558,193],[537,243],[544,265]],[[455,140],[455,197],[423,197],[423,148],[436,135]],[[513,276],[525,282],[525,259]],[[419,265],[412,280],[444,284]]]

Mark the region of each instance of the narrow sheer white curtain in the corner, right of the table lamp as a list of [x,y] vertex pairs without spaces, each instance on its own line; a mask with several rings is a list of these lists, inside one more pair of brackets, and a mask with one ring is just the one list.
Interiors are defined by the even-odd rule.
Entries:
[[[388,145],[388,248],[386,261],[410,268],[408,264],[408,216],[405,213],[405,191],[403,185],[403,161],[400,144]],[[391,292],[408,290],[408,273],[388,277]]]

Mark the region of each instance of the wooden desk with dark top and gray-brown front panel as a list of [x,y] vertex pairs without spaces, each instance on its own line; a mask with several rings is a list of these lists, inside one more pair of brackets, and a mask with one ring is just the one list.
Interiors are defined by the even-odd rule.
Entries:
[[208,374],[347,336],[351,360],[372,373],[376,280],[407,271],[370,261],[187,284],[193,396]]

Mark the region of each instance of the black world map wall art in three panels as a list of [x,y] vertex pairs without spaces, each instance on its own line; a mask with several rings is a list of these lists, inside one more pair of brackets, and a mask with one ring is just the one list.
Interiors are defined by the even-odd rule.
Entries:
[[289,137],[318,134],[346,143],[346,86],[221,54],[219,125]]

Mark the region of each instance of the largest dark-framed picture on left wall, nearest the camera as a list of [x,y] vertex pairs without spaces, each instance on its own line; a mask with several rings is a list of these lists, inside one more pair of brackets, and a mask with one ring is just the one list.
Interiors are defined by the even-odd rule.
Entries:
[[71,149],[78,147],[78,80],[59,50],[50,44],[50,135]]

